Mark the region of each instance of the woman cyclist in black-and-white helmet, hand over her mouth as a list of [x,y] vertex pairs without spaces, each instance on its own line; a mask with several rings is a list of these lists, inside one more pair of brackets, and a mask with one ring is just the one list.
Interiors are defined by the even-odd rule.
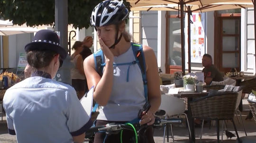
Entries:
[[[95,69],[94,55],[84,60],[84,72],[89,89],[94,86],[94,100],[103,106],[99,110],[96,126],[108,123],[126,123],[137,118],[140,109],[146,103],[144,82],[138,64],[127,65],[135,61],[131,36],[125,31],[125,20],[129,12],[123,1],[105,0],[98,4],[91,14],[91,25],[97,31],[104,58],[104,71],[100,76]],[[145,55],[148,101],[151,108],[143,113],[140,124],[152,125],[154,114],[161,104],[159,74],[155,52],[143,45]],[[144,134],[144,132],[143,132]],[[120,134],[108,135],[96,133],[94,143],[120,143]],[[133,131],[124,131],[122,143],[131,143],[135,138]],[[152,129],[146,130],[146,138],[154,143]]]

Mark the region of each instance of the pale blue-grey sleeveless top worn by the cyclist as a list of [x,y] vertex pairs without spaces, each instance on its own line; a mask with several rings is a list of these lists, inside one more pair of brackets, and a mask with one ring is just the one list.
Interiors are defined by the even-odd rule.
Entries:
[[[124,54],[114,57],[114,64],[135,60],[132,47]],[[129,72],[128,72],[129,67]],[[103,71],[104,72],[104,71]],[[129,80],[127,82],[127,74]],[[146,103],[141,70],[138,64],[114,66],[113,87],[110,100],[99,110],[98,120],[131,121]]]

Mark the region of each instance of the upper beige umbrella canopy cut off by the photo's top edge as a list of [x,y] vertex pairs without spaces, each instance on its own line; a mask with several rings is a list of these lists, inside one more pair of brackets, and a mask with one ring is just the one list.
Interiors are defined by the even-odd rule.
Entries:
[[[208,5],[211,3],[217,3],[217,2],[227,2],[232,0],[183,0],[185,4],[192,4],[192,5]],[[242,1],[242,0],[241,0]],[[131,4],[137,4],[140,3],[154,3],[154,4],[178,4],[180,0],[128,0]],[[139,6],[136,6],[139,7]]]

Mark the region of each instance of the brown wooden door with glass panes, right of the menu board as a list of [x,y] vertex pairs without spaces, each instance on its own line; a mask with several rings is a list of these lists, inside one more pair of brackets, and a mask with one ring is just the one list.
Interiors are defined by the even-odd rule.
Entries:
[[219,70],[240,71],[241,17],[219,17]]

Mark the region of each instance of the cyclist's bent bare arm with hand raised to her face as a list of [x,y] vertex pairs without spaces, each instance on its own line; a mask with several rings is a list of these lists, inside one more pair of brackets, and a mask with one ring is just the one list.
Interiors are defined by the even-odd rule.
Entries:
[[113,86],[113,61],[106,62],[102,77],[95,70],[93,54],[83,61],[83,67],[88,88],[94,86],[93,99],[101,106],[107,105]]

